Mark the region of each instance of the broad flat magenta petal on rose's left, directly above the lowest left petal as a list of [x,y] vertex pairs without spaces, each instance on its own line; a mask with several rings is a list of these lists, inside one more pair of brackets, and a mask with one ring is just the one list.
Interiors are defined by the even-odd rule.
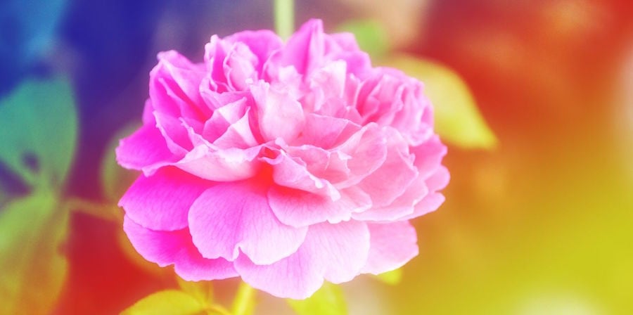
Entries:
[[189,207],[212,184],[180,169],[163,167],[152,176],[139,176],[119,206],[127,217],[148,229],[184,229]]

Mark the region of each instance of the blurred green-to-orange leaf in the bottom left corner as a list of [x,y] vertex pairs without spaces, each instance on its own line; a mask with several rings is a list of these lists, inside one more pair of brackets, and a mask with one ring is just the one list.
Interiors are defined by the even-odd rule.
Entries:
[[51,191],[35,191],[0,210],[0,305],[3,314],[49,314],[65,281],[60,252],[68,211]]

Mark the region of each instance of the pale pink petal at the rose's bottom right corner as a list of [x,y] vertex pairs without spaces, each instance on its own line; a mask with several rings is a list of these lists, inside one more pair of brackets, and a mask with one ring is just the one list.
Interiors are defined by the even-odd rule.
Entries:
[[392,271],[418,255],[418,236],[409,221],[367,226],[371,245],[363,273],[382,274]]

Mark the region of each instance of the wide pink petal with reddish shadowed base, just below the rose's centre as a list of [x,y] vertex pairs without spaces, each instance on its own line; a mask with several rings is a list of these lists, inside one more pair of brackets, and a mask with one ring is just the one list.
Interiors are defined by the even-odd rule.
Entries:
[[357,188],[341,191],[340,199],[333,201],[327,196],[273,186],[268,192],[268,200],[279,221],[290,226],[349,221],[352,213],[371,207],[369,195]]

